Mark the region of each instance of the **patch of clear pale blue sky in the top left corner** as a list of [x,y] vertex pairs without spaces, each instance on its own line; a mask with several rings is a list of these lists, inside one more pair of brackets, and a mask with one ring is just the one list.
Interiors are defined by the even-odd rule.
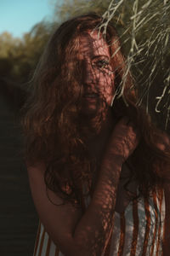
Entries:
[[[58,1],[58,0],[56,0]],[[0,34],[8,31],[21,38],[41,20],[51,20],[54,5],[50,0],[0,0]]]

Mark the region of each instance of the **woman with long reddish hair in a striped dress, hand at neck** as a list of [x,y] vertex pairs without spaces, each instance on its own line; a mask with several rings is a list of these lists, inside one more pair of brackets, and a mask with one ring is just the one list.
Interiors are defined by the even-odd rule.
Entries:
[[169,255],[169,140],[137,107],[115,29],[101,24],[92,14],[59,26],[33,80],[34,255]]

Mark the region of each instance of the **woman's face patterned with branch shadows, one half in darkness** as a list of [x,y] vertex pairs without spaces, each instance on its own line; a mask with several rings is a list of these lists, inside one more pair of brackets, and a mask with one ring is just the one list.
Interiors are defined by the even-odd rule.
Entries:
[[82,110],[94,112],[111,106],[115,75],[105,39],[97,31],[80,37],[79,58],[82,65]]

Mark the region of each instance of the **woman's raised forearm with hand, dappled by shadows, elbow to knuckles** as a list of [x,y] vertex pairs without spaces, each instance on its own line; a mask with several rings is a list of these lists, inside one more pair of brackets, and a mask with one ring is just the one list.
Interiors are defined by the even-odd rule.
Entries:
[[105,251],[114,224],[116,190],[122,163],[132,154],[138,141],[136,131],[132,124],[127,125],[126,118],[112,132],[92,201],[73,234],[81,247],[88,248],[85,255],[102,255]]

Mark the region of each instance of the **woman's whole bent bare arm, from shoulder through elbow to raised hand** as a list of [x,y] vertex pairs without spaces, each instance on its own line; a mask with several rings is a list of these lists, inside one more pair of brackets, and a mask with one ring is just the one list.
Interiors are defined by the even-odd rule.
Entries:
[[[127,119],[114,129],[103,157],[94,195],[87,211],[82,212],[66,203],[56,207],[48,201],[43,181],[44,166],[30,167],[31,193],[37,212],[48,235],[66,256],[102,255],[111,235],[116,204],[116,189],[122,163],[138,144],[137,132]],[[59,196],[50,192],[59,204]]]

